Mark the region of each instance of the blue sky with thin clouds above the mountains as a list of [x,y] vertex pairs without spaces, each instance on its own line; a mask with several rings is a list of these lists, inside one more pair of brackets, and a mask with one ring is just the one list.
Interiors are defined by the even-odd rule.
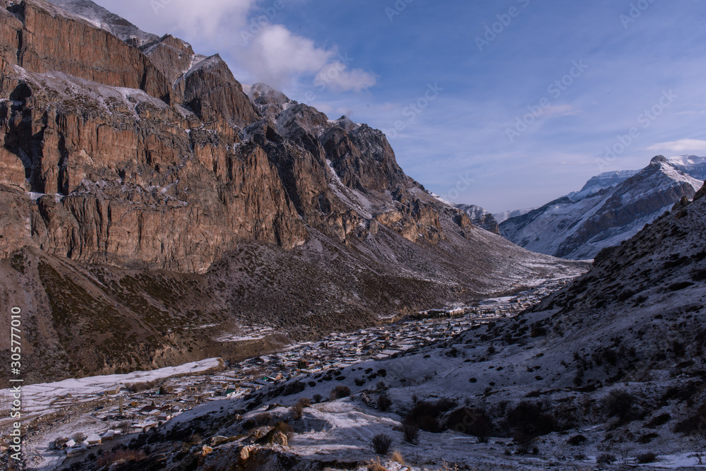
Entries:
[[654,155],[706,155],[706,2],[97,0],[381,129],[448,201],[533,208]]

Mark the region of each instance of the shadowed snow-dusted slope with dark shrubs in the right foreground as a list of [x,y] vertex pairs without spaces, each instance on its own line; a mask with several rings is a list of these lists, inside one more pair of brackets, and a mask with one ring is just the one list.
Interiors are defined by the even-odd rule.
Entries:
[[[200,405],[131,441],[116,468],[701,469],[705,196],[514,318]],[[371,461],[385,437],[396,455]]]

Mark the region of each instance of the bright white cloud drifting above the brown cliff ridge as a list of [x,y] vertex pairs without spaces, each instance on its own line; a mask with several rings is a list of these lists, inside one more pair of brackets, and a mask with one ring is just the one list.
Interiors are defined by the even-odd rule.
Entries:
[[[261,0],[97,0],[104,8],[157,35],[166,32],[194,45],[196,52],[221,55],[241,81],[260,81],[283,88],[297,81],[325,78],[334,92],[366,90],[376,76],[349,70],[337,59],[336,47],[317,47],[313,40],[277,24],[284,7]],[[202,50],[210,49],[210,50]],[[333,76],[332,78],[329,78]]]

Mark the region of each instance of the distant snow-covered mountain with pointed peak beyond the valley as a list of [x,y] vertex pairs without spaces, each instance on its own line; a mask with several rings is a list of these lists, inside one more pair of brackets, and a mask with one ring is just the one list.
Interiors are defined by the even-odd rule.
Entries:
[[637,234],[681,198],[691,198],[701,187],[703,162],[657,156],[639,172],[601,174],[581,191],[501,222],[501,234],[542,254],[593,258]]

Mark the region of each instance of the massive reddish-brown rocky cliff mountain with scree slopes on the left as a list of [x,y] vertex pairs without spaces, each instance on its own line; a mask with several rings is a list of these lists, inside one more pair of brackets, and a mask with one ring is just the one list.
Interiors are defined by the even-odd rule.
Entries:
[[[474,227],[381,131],[244,88],[217,54],[90,1],[3,6],[0,299],[27,382],[238,359],[585,270]],[[253,325],[275,333],[217,340]]]

